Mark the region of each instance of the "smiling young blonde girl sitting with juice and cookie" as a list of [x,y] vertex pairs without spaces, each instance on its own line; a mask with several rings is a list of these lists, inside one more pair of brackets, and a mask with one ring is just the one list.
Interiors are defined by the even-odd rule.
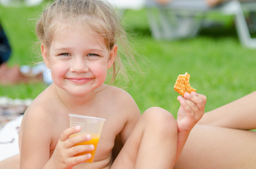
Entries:
[[[192,127],[204,113],[206,97],[185,94],[177,121],[162,108],[143,115],[122,89],[104,84],[120,61],[117,39],[124,37],[112,7],[98,0],[58,0],[37,22],[42,57],[53,83],[23,116],[21,168],[173,168]],[[69,113],[105,118],[93,163],[83,163],[95,149],[91,135],[71,137]]]

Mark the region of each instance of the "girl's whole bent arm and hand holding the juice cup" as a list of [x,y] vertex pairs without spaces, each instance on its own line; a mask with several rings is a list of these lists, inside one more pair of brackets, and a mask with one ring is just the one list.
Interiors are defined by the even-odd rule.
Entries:
[[[41,108],[42,109],[42,108]],[[90,154],[74,155],[83,151],[91,151],[89,145],[74,146],[91,139],[88,135],[71,137],[81,127],[70,127],[62,132],[56,147],[52,147],[55,123],[50,115],[37,110],[36,113],[26,112],[21,125],[21,169],[26,168],[59,168],[68,169],[91,158]],[[50,157],[50,149],[54,152]],[[93,148],[94,149],[94,148]],[[52,151],[53,151],[52,150]]]

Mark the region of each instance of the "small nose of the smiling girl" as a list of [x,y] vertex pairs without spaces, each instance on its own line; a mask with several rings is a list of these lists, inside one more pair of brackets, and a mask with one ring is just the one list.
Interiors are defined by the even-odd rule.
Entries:
[[89,68],[84,58],[73,58],[70,71],[76,73],[88,72]]

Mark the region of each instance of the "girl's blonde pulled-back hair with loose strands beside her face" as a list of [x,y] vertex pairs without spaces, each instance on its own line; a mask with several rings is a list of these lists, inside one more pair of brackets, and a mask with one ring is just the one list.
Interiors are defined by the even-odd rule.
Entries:
[[[120,18],[115,13],[115,9],[106,1],[100,0],[57,0],[43,11],[36,24],[37,37],[42,44],[50,48],[54,36],[54,29],[58,20],[76,20],[76,22],[86,22],[98,35],[102,36],[107,49],[111,50],[121,42],[125,49],[126,60],[129,63],[136,63],[134,55],[129,47],[127,36],[120,25]],[[131,64],[130,64],[131,65]],[[124,77],[127,77],[117,54],[115,63],[112,66],[112,77],[110,83],[115,82],[117,73],[121,70]]]

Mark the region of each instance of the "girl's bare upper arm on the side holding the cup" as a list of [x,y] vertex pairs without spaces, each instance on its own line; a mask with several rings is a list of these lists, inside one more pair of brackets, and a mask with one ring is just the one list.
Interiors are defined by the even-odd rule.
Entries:
[[29,108],[25,112],[21,124],[21,169],[43,168],[50,158],[50,120],[40,110],[36,110],[36,113],[30,110],[33,111]]

